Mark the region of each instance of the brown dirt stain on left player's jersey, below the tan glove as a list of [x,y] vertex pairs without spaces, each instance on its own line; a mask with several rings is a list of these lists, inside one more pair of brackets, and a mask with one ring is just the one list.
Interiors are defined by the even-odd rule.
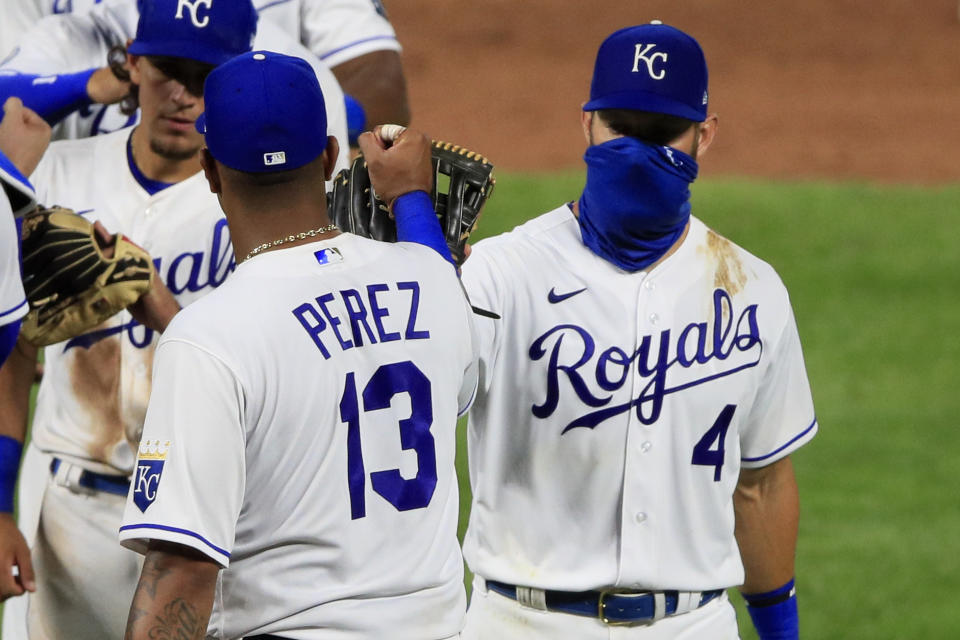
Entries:
[[70,384],[93,429],[89,455],[106,462],[117,442],[126,438],[120,416],[120,340],[106,338],[89,349],[75,347]]

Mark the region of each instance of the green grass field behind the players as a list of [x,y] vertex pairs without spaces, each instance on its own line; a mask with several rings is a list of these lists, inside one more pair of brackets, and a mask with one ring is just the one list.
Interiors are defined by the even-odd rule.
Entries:
[[[475,237],[581,186],[579,173],[502,175]],[[960,187],[704,179],[694,212],[791,292],[821,425],[794,455],[803,637],[956,637]],[[461,447],[461,528],[465,460]]]

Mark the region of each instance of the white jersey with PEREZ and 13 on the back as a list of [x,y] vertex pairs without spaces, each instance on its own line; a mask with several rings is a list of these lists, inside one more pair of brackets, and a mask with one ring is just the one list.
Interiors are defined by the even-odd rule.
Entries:
[[259,255],[177,315],[155,378],[120,538],[228,567],[209,634],[459,632],[476,365],[449,263],[349,234]]

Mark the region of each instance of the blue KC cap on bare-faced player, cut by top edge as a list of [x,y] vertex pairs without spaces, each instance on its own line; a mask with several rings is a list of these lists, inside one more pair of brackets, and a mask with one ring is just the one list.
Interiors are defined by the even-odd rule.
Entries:
[[253,48],[257,11],[250,0],[137,0],[138,56],[188,58],[223,64]]

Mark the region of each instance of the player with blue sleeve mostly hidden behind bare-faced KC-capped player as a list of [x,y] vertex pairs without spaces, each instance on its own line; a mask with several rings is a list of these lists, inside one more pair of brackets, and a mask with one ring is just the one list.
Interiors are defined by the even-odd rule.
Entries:
[[[177,11],[183,20],[195,19],[202,23],[206,4],[204,0],[181,0]],[[131,126],[136,123],[138,113],[121,112],[116,103],[126,95],[127,86],[113,77],[106,63],[112,47],[126,45],[134,38],[137,21],[136,0],[103,0],[83,13],[48,16],[24,33],[9,55],[0,54],[6,58],[0,64],[0,80],[4,76],[8,80],[23,77],[26,82],[21,88],[23,95],[17,95],[27,104],[31,104],[33,98],[57,105],[54,115],[41,113],[50,119],[62,118],[54,127],[55,139],[81,138]],[[330,96],[327,104],[330,131],[338,139],[347,140],[343,91],[326,63],[268,20],[259,22],[252,47],[308,60],[325,95]],[[42,77],[35,78],[37,75]],[[98,83],[96,89],[94,82]],[[91,95],[110,104],[91,103]],[[344,164],[339,168],[346,166],[347,154],[343,156]]]

